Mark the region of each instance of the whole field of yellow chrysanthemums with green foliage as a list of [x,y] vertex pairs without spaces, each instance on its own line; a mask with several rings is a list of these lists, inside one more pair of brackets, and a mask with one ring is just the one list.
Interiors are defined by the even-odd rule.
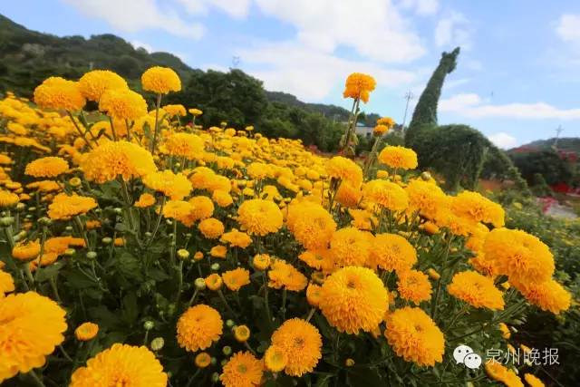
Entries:
[[2,385],[543,385],[487,353],[531,353],[522,315],[575,304],[552,252],[381,148],[389,118],[353,160],[371,76],[346,81],[333,157],[196,125],[163,104],[169,68],[141,86],[92,71],[0,101]]

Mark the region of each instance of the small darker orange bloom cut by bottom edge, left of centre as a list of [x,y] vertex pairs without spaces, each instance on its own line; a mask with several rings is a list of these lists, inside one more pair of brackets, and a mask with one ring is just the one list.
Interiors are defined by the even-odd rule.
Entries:
[[224,365],[219,380],[225,387],[256,387],[262,382],[264,364],[252,353],[238,352]]

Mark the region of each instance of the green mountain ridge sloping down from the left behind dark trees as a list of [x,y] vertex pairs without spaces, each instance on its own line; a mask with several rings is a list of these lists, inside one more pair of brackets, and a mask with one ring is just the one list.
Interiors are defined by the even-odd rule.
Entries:
[[[202,73],[171,53],[148,53],[134,48],[114,34],[55,36],[32,31],[0,15],[0,92],[13,91],[30,96],[49,76],[78,79],[91,69],[109,69],[140,89],[140,74],[154,65],[169,66],[179,73],[184,85],[192,73]],[[269,102],[299,107],[323,114],[330,121],[347,121],[350,111],[340,106],[306,103],[286,92],[267,92]],[[362,115],[363,123],[373,126],[378,114]]]

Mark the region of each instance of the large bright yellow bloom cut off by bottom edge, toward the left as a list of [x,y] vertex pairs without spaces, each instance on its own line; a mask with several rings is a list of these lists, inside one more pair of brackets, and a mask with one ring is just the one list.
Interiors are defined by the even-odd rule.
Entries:
[[89,359],[86,367],[77,368],[70,386],[165,387],[167,382],[167,373],[147,347],[115,343]]

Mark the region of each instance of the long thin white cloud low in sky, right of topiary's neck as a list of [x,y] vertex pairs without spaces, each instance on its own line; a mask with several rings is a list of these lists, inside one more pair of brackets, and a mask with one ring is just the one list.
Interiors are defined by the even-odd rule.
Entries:
[[478,94],[457,94],[440,100],[440,111],[469,118],[511,118],[520,120],[580,120],[580,108],[559,109],[546,102],[491,104]]

